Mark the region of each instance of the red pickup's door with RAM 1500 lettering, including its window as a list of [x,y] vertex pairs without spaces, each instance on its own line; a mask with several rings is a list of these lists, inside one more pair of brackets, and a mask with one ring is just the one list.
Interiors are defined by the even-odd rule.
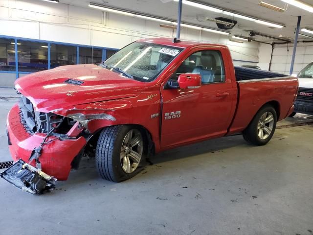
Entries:
[[[193,50],[161,88],[163,100],[161,148],[224,136],[233,115],[233,84],[226,48],[203,47]],[[182,73],[199,73],[201,87],[180,89]],[[236,85],[236,84],[235,84]]]

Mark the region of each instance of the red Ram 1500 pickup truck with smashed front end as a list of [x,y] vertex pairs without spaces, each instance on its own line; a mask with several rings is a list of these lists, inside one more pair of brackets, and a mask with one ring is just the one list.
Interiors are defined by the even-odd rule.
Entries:
[[[120,182],[148,155],[169,148],[237,133],[266,144],[276,122],[293,112],[298,81],[234,68],[224,45],[155,38],[99,65],[29,74],[16,89],[22,98],[7,118],[11,155],[53,184],[92,152],[100,176]],[[42,189],[39,179],[16,177],[20,182],[11,183],[19,188]]]

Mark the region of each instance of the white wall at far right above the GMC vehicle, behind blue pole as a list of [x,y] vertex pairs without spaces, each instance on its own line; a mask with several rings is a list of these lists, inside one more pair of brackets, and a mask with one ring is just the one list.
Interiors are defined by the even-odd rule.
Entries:
[[[275,45],[270,71],[289,74],[293,44]],[[270,62],[270,45],[260,45],[259,66],[267,68]],[[300,72],[307,64],[313,61],[313,43],[298,43],[293,66],[293,74]],[[263,66],[263,67],[262,67]]]

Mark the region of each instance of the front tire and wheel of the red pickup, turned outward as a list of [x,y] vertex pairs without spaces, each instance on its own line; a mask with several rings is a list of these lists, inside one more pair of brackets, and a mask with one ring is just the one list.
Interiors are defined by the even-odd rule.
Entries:
[[131,125],[109,126],[100,133],[96,168],[106,180],[121,182],[134,177],[146,155],[144,134]]

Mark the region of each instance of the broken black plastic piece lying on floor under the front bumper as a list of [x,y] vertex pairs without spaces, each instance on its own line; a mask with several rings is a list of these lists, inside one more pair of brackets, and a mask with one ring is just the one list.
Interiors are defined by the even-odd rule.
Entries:
[[31,194],[42,194],[55,188],[56,178],[45,174],[21,159],[0,173],[0,177]]

